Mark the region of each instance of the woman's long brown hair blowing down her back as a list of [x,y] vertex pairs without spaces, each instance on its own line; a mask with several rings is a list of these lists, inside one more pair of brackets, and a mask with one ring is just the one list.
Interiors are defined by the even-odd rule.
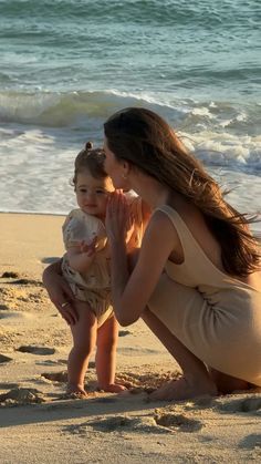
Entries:
[[260,268],[258,241],[248,227],[254,217],[240,214],[225,200],[217,182],[160,116],[147,109],[125,109],[106,121],[104,132],[118,161],[129,162],[178,192],[202,213],[229,275],[246,277]]

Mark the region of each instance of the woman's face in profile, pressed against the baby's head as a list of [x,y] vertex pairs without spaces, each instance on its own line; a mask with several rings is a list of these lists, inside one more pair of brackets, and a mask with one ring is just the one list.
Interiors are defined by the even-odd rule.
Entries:
[[115,188],[123,188],[128,190],[130,188],[128,182],[128,165],[126,162],[117,161],[116,156],[107,146],[106,137],[103,145],[105,152],[104,168],[107,175],[112,178]]

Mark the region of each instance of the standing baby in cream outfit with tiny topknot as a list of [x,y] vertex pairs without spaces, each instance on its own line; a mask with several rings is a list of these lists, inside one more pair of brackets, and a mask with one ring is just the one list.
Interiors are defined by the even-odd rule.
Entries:
[[[115,188],[104,171],[104,152],[93,149],[90,142],[79,153],[74,167],[79,209],[73,209],[63,225],[66,254],[62,259],[62,272],[74,293],[79,316],[76,323],[70,326],[73,348],[67,360],[67,393],[86,395],[84,377],[95,344],[98,388],[118,393],[125,386],[115,382],[118,323],[112,308],[104,225],[107,199]],[[134,221],[128,243],[137,248],[143,235],[142,200],[129,194],[126,198]]]

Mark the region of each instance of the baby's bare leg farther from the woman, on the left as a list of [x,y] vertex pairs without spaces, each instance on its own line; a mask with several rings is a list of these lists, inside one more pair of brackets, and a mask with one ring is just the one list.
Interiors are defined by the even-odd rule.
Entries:
[[84,377],[96,342],[97,320],[87,302],[77,301],[75,307],[79,320],[71,326],[73,348],[67,359],[67,392],[86,394]]

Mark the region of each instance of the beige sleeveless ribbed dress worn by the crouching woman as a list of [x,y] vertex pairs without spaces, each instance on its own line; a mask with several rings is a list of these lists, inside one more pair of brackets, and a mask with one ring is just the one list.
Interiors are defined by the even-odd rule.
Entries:
[[261,386],[261,290],[220,271],[170,206],[165,213],[184,249],[167,261],[148,307],[209,367]]

